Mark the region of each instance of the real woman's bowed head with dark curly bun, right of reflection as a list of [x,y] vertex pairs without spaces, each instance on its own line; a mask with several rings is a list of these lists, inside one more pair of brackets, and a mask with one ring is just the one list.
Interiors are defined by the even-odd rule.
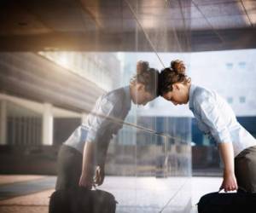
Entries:
[[171,67],[160,72],[159,93],[174,105],[186,104],[189,101],[191,79],[186,76],[185,71],[182,60],[172,60]]

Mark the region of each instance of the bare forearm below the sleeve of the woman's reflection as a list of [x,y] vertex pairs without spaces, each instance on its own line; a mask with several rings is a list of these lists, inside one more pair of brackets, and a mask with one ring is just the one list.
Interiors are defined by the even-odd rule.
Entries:
[[82,174],[79,180],[80,187],[91,188],[93,184],[93,152],[94,152],[94,143],[86,141],[84,145],[84,154],[83,154],[83,165],[82,165]]

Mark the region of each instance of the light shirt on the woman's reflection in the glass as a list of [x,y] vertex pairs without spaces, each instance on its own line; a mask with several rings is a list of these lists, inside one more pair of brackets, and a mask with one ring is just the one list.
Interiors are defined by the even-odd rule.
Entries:
[[100,96],[95,107],[80,125],[64,142],[65,145],[77,149],[83,154],[85,141],[97,143],[97,147],[104,147],[117,135],[122,128],[131,109],[130,87],[122,87]]

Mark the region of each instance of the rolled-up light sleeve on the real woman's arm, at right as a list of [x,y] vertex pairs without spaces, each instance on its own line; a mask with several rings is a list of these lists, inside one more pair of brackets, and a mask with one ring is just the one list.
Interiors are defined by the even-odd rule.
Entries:
[[207,125],[214,140],[218,143],[232,142],[230,131],[215,100],[212,97],[207,97],[198,102],[197,106],[201,121]]

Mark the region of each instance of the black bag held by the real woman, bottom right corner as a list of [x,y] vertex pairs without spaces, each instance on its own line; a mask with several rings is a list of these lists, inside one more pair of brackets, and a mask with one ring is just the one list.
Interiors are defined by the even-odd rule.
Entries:
[[207,193],[197,208],[198,213],[255,213],[256,193]]

